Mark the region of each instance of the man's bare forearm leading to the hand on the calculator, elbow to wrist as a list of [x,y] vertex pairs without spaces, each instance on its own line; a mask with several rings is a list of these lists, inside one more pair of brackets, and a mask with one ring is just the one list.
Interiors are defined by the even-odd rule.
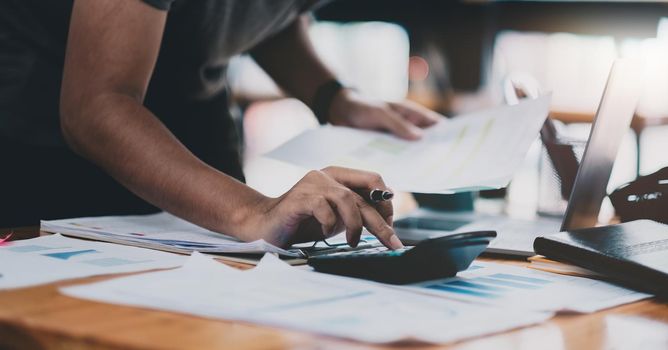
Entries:
[[[255,239],[243,229],[263,196],[195,157],[136,99],[97,94],[63,116],[73,148],[148,202],[214,231]],[[104,200],[104,198],[100,198]]]

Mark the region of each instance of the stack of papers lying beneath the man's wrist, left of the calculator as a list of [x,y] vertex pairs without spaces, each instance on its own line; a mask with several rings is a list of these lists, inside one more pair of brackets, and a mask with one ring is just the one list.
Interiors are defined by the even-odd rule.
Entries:
[[264,253],[301,257],[299,250],[278,248],[264,240],[243,242],[209,231],[166,212],[42,221],[47,232],[172,252]]

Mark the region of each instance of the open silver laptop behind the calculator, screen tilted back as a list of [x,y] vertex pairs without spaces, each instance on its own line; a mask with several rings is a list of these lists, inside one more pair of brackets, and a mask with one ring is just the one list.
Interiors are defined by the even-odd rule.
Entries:
[[397,235],[405,244],[415,244],[455,233],[494,230],[497,238],[486,253],[527,257],[535,255],[533,241],[538,236],[596,226],[619,145],[640,97],[640,77],[635,61],[614,62],[563,218],[518,220],[503,215],[418,209],[395,221]]

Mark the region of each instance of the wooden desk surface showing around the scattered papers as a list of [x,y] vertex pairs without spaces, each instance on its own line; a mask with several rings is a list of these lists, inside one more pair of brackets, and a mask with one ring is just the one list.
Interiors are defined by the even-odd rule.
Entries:
[[[7,230],[0,230],[4,237]],[[15,231],[37,236],[36,229]],[[522,264],[521,262],[513,262]],[[94,277],[0,292],[0,349],[368,349],[346,340],[69,298],[57,288]],[[442,347],[449,349],[668,349],[668,304],[642,301]]]

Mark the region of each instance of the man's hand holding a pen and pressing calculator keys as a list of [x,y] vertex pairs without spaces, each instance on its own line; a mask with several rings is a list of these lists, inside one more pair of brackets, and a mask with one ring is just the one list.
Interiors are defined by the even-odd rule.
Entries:
[[364,199],[372,189],[387,189],[375,173],[339,167],[311,171],[281,197],[258,203],[244,226],[281,247],[344,229],[348,244],[357,246],[363,227],[388,248],[403,247],[392,229],[392,203]]

